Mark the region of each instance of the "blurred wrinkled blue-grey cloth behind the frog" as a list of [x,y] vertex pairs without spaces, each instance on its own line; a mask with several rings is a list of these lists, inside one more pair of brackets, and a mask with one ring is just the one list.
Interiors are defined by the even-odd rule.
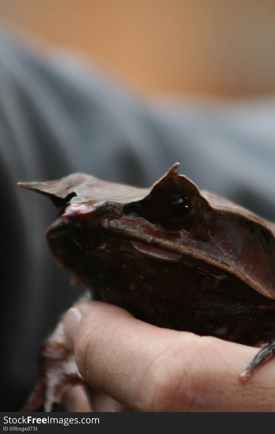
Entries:
[[68,53],[42,57],[0,33],[2,410],[21,407],[41,340],[82,291],[46,247],[52,204],[16,183],[83,171],[148,186],[179,161],[200,188],[275,220],[274,121],[273,98],[144,101]]

